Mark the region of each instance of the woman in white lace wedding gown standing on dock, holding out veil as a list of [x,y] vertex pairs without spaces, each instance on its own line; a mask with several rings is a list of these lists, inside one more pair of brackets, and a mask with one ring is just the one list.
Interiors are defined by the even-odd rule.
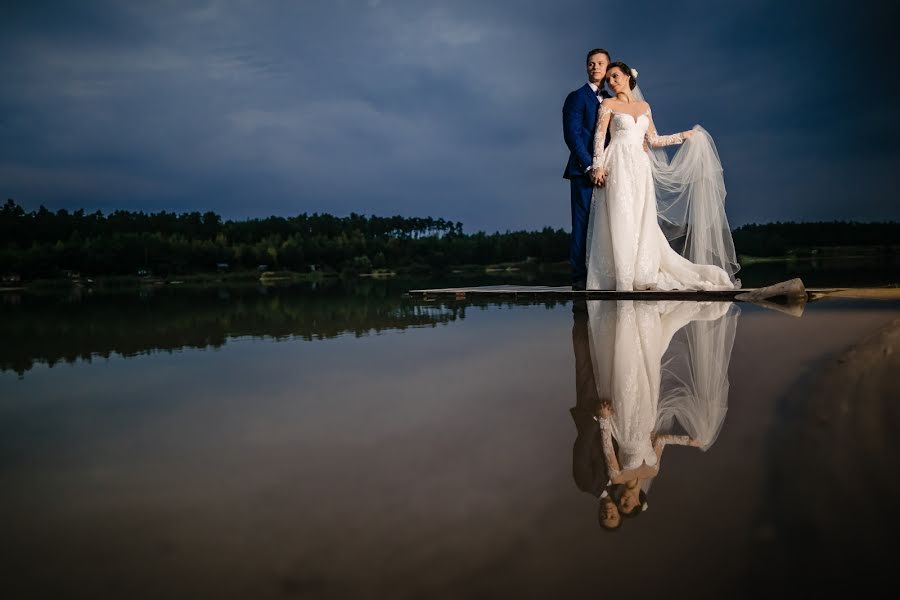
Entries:
[[[740,287],[725,218],[722,166],[699,125],[661,136],[636,89],[637,71],[614,62],[615,98],[600,105],[594,136],[587,289],[730,290]],[[607,131],[610,142],[606,145]],[[669,163],[663,146],[683,144]],[[683,243],[675,252],[663,233]]]

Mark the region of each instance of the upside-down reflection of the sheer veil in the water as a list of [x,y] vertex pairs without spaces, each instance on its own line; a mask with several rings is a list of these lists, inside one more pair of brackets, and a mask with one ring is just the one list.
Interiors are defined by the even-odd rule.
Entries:
[[728,410],[728,364],[740,308],[720,304],[721,316],[691,321],[679,330],[663,357],[657,432],[678,424],[707,450]]

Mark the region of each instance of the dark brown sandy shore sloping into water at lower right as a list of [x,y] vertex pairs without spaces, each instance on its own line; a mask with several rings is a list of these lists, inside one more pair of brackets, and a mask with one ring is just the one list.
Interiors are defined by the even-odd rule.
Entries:
[[883,577],[900,524],[900,319],[829,359],[780,408],[758,575]]

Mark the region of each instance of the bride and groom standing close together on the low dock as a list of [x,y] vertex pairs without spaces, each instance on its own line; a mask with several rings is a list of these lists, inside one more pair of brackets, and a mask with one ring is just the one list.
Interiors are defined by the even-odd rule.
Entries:
[[[700,126],[659,135],[637,71],[606,50],[588,53],[587,75],[563,106],[573,289],[739,287],[712,138]],[[681,145],[671,161],[670,145]]]

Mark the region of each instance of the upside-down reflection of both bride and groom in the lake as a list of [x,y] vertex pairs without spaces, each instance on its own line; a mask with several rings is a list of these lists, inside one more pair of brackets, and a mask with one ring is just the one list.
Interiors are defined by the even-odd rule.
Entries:
[[726,302],[574,305],[573,475],[605,529],[647,509],[667,445],[715,442],[739,314]]

